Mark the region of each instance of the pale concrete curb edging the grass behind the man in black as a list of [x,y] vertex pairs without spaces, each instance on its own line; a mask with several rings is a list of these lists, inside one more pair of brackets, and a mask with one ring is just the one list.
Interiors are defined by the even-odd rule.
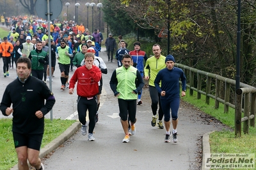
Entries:
[[[39,157],[42,158],[45,155],[47,155],[48,153],[50,153],[51,151],[55,150],[56,148],[58,148],[58,146],[60,146],[61,144],[63,144],[65,141],[67,141],[67,139],[69,139],[74,133],[76,133],[76,131],[81,127],[81,123],[79,121],[76,121],[75,123],[73,123],[70,127],[67,128],[67,130],[65,130],[65,132],[63,132],[61,135],[59,135],[56,139],[54,139],[53,141],[51,141],[51,143],[47,144],[46,146],[44,146],[44,148],[40,149],[40,154]],[[15,166],[13,166],[10,170],[18,170],[18,164],[16,164]]]

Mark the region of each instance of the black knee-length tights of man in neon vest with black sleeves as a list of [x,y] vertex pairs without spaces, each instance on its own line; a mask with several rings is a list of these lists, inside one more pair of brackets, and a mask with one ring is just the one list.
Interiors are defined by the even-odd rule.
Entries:
[[128,114],[131,122],[136,122],[136,99],[135,100],[124,100],[118,98],[119,116],[122,121],[126,121]]

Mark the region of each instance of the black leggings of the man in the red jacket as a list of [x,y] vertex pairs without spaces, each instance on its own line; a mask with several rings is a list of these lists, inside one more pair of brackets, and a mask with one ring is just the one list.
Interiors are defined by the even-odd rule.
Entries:
[[86,111],[88,109],[89,112],[89,133],[93,133],[93,129],[95,127],[95,115],[97,112],[97,97],[93,97],[88,100],[87,97],[78,97],[77,98],[77,112],[79,121],[85,125],[86,124]]

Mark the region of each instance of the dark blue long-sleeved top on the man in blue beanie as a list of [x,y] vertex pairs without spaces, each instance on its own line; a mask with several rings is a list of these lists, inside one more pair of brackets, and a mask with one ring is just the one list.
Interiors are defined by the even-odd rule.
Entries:
[[[173,66],[172,70],[164,68],[160,70],[154,81],[158,93],[165,91],[165,96],[160,97],[162,100],[170,100],[172,98],[180,97],[179,80],[182,82],[182,90],[186,89],[186,76],[180,68]],[[161,88],[159,82],[161,81]]]

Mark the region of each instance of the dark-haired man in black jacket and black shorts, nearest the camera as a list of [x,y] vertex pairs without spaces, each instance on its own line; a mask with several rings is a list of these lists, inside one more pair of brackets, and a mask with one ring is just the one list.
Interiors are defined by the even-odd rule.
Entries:
[[19,58],[16,70],[18,77],[6,87],[0,109],[4,116],[13,113],[12,131],[19,169],[29,169],[27,159],[36,169],[44,169],[39,158],[44,115],[51,111],[55,98],[42,80],[30,76],[29,58]]

